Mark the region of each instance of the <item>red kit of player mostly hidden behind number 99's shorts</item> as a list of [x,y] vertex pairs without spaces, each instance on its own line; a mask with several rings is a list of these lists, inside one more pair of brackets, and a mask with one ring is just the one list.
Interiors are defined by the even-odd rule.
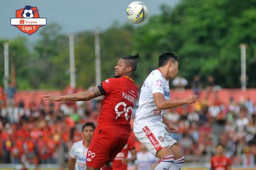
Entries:
[[122,164],[122,160],[124,158],[127,158],[128,151],[131,149],[135,149],[135,145],[134,141],[129,138],[127,144],[122,149],[122,151],[116,155],[115,161],[112,163],[113,170],[127,170],[127,164]]

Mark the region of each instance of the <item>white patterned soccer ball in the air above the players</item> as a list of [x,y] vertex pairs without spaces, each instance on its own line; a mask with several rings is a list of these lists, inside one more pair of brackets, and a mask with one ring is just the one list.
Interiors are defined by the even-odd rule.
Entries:
[[135,1],[126,8],[127,18],[131,23],[143,23],[148,18],[148,8],[144,3]]

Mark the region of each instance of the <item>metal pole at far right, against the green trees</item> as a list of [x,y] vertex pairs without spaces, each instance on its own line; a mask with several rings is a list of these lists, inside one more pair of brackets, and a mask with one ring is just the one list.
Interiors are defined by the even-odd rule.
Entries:
[[241,90],[246,91],[246,45],[240,44],[241,48]]

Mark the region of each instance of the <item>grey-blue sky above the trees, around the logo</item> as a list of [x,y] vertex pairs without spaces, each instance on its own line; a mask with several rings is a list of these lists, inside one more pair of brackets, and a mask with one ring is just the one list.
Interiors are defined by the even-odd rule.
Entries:
[[[96,26],[104,30],[115,21],[120,24],[129,23],[126,8],[131,2],[133,0],[0,0],[0,39],[13,39],[17,36],[26,36],[31,41],[39,39],[38,33],[42,28],[29,36],[10,25],[10,18],[15,17],[15,11],[25,5],[38,7],[40,17],[47,18],[47,24],[58,23],[62,26],[61,33],[71,34],[93,30]],[[160,5],[174,7],[179,0],[142,2],[148,7],[150,17],[160,13]]]

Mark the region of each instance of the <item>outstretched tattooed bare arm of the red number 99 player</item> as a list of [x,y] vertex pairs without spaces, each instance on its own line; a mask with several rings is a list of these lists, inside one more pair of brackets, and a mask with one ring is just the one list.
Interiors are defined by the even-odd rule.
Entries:
[[75,94],[67,94],[63,96],[47,94],[43,97],[46,102],[52,102],[52,101],[59,102],[59,101],[87,101],[102,95],[103,95],[102,92],[99,90],[98,87],[96,87],[96,88],[93,88],[92,90],[82,91]]

